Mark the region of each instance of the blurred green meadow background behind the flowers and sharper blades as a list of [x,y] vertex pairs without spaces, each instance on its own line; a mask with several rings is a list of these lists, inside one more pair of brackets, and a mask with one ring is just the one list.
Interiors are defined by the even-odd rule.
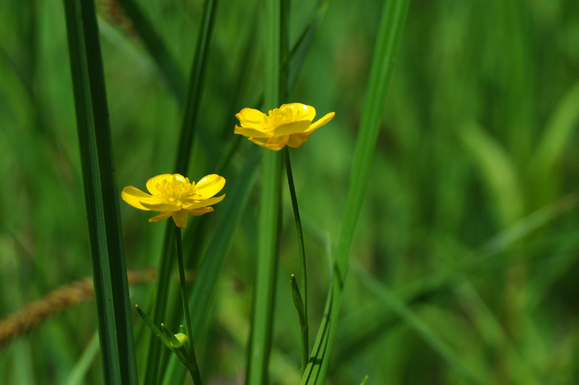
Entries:
[[[175,76],[186,78],[201,1],[138,3],[174,55],[182,72]],[[292,0],[292,42],[316,6]],[[316,107],[318,117],[336,111],[291,150],[305,223],[311,340],[323,313],[327,243],[338,237],[382,6],[331,0],[288,98]],[[173,172],[182,99],[118,3],[98,0],[97,8],[119,191],[144,189],[149,177]],[[233,140],[230,111],[257,106],[261,8],[259,1],[219,4],[192,180],[212,173]],[[469,377],[484,384],[579,383],[578,125],[576,0],[411,2],[329,383],[358,384],[365,375],[369,384],[467,384]],[[226,179],[235,179],[250,144],[241,141]],[[256,188],[197,348],[209,384],[243,383],[258,199]],[[121,205],[127,267],[156,268],[164,225]],[[216,205],[195,249],[206,247],[218,217]],[[297,384],[299,326],[288,277],[299,272],[299,261],[285,180],[283,222],[270,380]],[[415,318],[393,313],[363,270],[405,300]],[[0,318],[90,274],[63,5],[2,0]],[[151,308],[154,288],[131,286],[131,302]],[[133,315],[141,375],[150,332]],[[0,350],[0,383],[73,384],[83,352],[91,364],[76,383],[102,383],[89,344],[95,316],[89,301],[14,340]]]

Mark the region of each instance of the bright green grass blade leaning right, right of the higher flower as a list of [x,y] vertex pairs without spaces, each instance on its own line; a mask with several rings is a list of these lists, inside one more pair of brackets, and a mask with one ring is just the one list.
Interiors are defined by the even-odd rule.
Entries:
[[[354,152],[354,161],[350,172],[350,187],[346,201],[346,208],[342,218],[342,227],[338,239],[338,248],[336,250],[336,259],[333,270],[333,305],[328,318],[323,321],[318,331],[318,339],[325,330],[329,329],[326,348],[331,351],[332,340],[334,339],[336,325],[338,323],[338,314],[340,302],[342,299],[343,282],[346,277],[348,260],[353,246],[354,234],[360,209],[364,199],[364,192],[372,166],[374,149],[380,122],[382,121],[382,112],[386,104],[386,96],[390,86],[390,79],[394,71],[394,63],[398,53],[398,47],[402,38],[402,31],[408,14],[409,0],[389,0],[384,3],[382,20],[378,31],[378,41],[374,49],[372,68],[368,82],[368,91]],[[329,325],[328,325],[329,322]],[[325,352],[324,352],[325,353]],[[319,365],[320,383],[325,382],[325,376],[328,369],[329,360],[316,355],[313,351],[310,356],[310,363],[306,373],[302,378],[302,385],[316,384],[318,378],[309,380],[307,378],[310,365]]]

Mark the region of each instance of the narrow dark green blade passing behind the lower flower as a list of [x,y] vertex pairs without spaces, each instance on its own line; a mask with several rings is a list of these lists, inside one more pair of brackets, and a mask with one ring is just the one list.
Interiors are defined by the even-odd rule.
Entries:
[[[207,64],[209,46],[215,30],[215,17],[217,14],[217,0],[206,0],[201,11],[201,21],[197,39],[195,42],[195,53],[191,67],[185,113],[177,143],[177,158],[175,160],[175,172],[187,175],[189,158],[195,140],[197,113],[203,95],[203,85],[205,81],[205,67]],[[166,314],[169,276],[171,273],[171,261],[174,254],[174,226],[167,224],[163,253],[159,266],[159,282],[157,284],[155,313],[153,322],[160,324]],[[155,385],[159,372],[160,343],[155,336],[149,339],[148,356],[146,364],[145,385]]]

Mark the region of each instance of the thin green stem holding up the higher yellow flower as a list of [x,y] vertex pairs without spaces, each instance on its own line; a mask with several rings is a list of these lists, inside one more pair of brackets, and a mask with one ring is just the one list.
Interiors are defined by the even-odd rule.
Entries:
[[307,275],[306,275],[306,250],[303,246],[303,231],[302,220],[299,217],[298,198],[295,195],[294,175],[291,171],[290,151],[288,146],[283,148],[285,172],[288,176],[288,186],[290,187],[291,204],[294,208],[295,229],[298,233],[298,249],[299,249],[299,266],[301,268],[301,286],[302,286],[302,302],[303,302],[303,325],[300,325],[302,336],[302,373],[306,370],[307,360],[309,358],[309,325],[307,321]]

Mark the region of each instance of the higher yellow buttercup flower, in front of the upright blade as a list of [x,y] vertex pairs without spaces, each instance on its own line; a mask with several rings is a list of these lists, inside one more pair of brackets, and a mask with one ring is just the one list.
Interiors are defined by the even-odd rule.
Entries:
[[335,112],[330,112],[312,124],[316,109],[302,103],[282,104],[280,108],[270,110],[269,115],[254,108],[244,108],[235,115],[241,127],[236,125],[234,132],[270,150],[281,150],[286,144],[298,148],[334,115]]

